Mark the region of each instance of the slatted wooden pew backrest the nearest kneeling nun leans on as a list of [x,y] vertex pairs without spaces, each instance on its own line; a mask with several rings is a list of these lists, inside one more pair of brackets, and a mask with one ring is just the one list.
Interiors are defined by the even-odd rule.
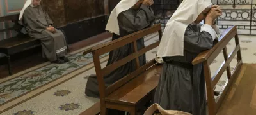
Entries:
[[[207,97],[208,97],[208,110],[209,115],[214,115],[218,112],[218,110],[221,107],[221,104],[224,102],[224,98],[227,95],[227,92],[232,87],[234,81],[236,80],[241,65],[243,65],[242,57],[241,57],[241,50],[240,50],[240,44],[239,44],[239,38],[237,35],[237,28],[236,26],[230,27],[227,30],[225,30],[223,35],[219,39],[219,43],[217,43],[211,50],[204,51],[203,53],[200,53],[198,57],[193,60],[193,65],[203,63],[204,66],[204,74],[205,74],[205,82],[207,87]],[[236,48],[234,48],[233,51],[228,55],[227,54],[227,44],[229,41],[235,37],[236,41]],[[210,65],[214,61],[214,59],[223,51],[223,56],[225,61],[221,65],[220,69],[216,72],[214,76],[211,76],[210,71]],[[230,62],[233,60],[233,58],[237,55],[237,65],[234,69],[234,71],[230,71]],[[213,88],[216,86],[218,81],[220,80],[223,72],[227,71],[227,78],[225,86],[220,91],[220,94],[218,95],[217,99],[214,99],[214,91]]]

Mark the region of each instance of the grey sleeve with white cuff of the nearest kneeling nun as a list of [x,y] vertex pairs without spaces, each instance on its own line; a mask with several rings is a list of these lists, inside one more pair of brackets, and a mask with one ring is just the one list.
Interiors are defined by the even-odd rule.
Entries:
[[202,26],[199,34],[188,27],[184,35],[184,50],[191,53],[209,50],[213,46],[212,38],[215,37],[216,34],[210,25]]

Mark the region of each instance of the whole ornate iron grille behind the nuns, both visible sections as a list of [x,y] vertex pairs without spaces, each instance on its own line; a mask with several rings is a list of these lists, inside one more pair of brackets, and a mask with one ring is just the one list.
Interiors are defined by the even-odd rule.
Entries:
[[[177,10],[182,0],[154,0],[152,9],[156,15],[155,23],[163,29]],[[217,24],[221,30],[237,25],[238,34],[256,35],[256,0],[212,0],[223,8],[223,15]]]

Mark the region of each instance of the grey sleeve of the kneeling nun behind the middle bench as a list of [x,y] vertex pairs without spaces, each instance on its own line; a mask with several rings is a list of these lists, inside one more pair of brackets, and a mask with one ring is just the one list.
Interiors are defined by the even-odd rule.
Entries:
[[141,5],[141,8],[137,11],[136,15],[134,15],[131,10],[132,9],[123,11],[118,15],[118,23],[122,23],[121,27],[124,30],[127,30],[127,32],[145,29],[150,26],[155,19],[154,13],[144,4]]

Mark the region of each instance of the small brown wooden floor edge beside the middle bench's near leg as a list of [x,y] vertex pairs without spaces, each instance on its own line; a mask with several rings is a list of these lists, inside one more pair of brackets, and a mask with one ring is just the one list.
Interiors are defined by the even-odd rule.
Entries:
[[100,114],[100,102],[95,103],[88,109],[86,109],[84,112],[82,112],[79,115],[97,115]]

